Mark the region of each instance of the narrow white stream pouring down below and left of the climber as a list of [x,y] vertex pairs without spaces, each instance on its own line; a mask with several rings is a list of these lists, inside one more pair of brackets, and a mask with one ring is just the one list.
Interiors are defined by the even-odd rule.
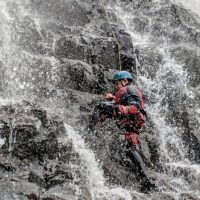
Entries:
[[105,185],[105,179],[102,170],[98,166],[95,155],[92,150],[88,149],[84,140],[70,125],[65,124],[66,133],[72,140],[75,151],[79,154],[83,161],[84,168],[87,170],[88,187],[92,199],[107,200],[131,200],[131,194],[128,190],[120,187],[108,187]]

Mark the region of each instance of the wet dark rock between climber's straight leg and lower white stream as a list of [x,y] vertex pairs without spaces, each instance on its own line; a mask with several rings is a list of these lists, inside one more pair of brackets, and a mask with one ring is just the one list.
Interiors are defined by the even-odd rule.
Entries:
[[[117,128],[116,124],[107,119],[101,126],[88,135],[85,133],[86,142],[94,150],[104,170],[104,175],[110,184],[123,187],[139,188],[139,183],[135,176],[135,166],[126,155],[126,143],[124,140],[124,130]],[[144,133],[141,133],[141,135]],[[142,139],[141,139],[142,140]],[[144,151],[146,149],[143,149]],[[144,152],[142,151],[142,152]],[[155,154],[154,154],[155,156]],[[152,161],[145,154],[145,164],[152,165]],[[153,159],[152,159],[153,160]],[[153,174],[153,172],[151,171]]]

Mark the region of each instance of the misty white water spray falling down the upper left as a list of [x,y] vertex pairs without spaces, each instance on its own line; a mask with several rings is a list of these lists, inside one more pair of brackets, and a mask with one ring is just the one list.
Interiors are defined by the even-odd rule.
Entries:
[[[48,44],[42,41],[45,36],[40,30],[40,20],[31,13],[29,1],[0,3],[1,96],[10,100],[14,97],[12,101],[41,100],[54,90],[50,82],[56,82],[55,66],[59,61],[37,53],[42,46],[48,48]],[[36,41],[40,43],[38,46]]]

